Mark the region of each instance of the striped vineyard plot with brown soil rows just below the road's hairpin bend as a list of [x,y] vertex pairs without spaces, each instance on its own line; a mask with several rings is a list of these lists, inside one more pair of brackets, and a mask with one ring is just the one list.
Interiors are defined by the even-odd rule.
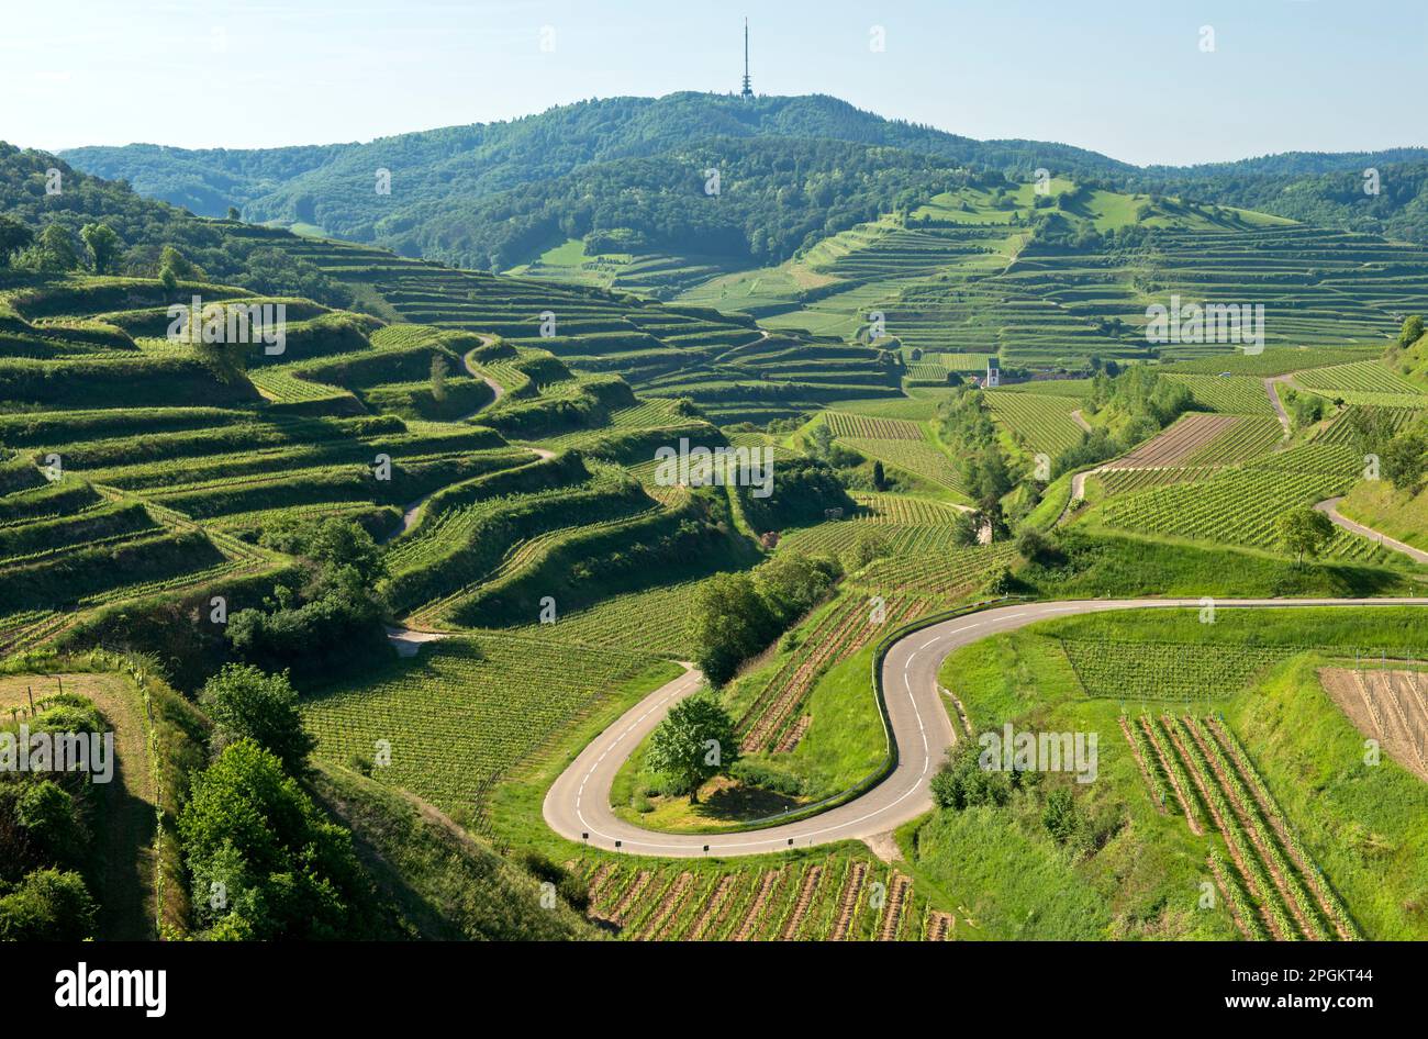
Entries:
[[581,859],[590,912],[635,942],[950,941],[957,921],[911,879],[871,858],[828,855],[777,865],[661,865]]

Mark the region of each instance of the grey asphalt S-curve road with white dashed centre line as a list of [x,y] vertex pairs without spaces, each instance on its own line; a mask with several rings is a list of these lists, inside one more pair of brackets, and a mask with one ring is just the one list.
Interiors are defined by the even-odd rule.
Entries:
[[[1111,609],[1195,608],[1200,599],[1084,599],[1025,602],[958,617],[915,631],[887,652],[883,686],[898,762],[892,772],[860,798],[797,822],[743,833],[660,833],[615,816],[610,788],[615,772],[670,708],[695,692],[703,678],[687,671],[630,708],[595,736],[561,772],[545,795],[545,822],[564,838],[597,848],[641,855],[693,858],[757,855],[790,846],[868,839],[922,815],[932,806],[928,784],[955,741],[937,689],[947,657],[965,645],[1015,631],[1037,621]],[[1218,608],[1428,605],[1428,598],[1401,599],[1220,599]],[[707,851],[705,851],[707,849]]]

